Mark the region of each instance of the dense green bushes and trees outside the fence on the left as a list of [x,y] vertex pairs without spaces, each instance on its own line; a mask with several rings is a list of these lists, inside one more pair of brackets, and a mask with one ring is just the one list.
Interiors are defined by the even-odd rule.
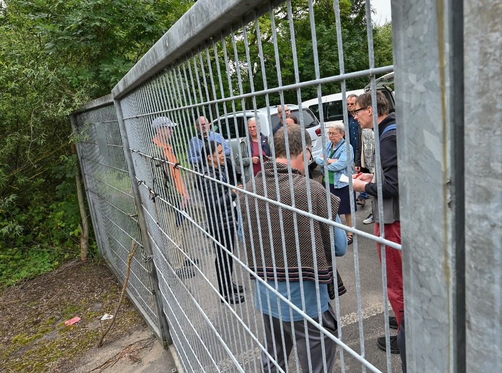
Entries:
[[191,4],[0,2],[0,288],[78,254],[68,114],[109,93]]

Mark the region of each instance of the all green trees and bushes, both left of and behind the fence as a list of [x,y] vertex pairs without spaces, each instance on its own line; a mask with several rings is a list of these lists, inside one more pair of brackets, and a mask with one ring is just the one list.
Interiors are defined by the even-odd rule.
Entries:
[[[366,69],[364,1],[339,3],[345,72]],[[192,4],[187,0],[0,2],[0,288],[50,271],[61,260],[78,254],[76,158],[69,147],[68,114],[109,93]],[[300,79],[315,79],[308,2],[294,0],[292,4]],[[274,30],[285,85],[295,82],[292,39],[286,8],[277,14]],[[339,62],[332,1],[314,1],[314,15],[320,77],[336,75]],[[260,18],[260,27],[267,82],[274,86],[278,74],[268,15]],[[392,64],[390,25],[376,27],[373,33],[376,66]],[[242,36],[236,35],[236,53],[245,61]],[[255,89],[263,89],[258,36],[252,27],[246,36]],[[227,51],[233,59],[231,42]],[[215,61],[214,55],[210,59]],[[221,51],[218,60],[226,71]],[[233,93],[238,94],[235,66],[229,69],[234,72]],[[238,68],[247,74],[246,64]],[[209,76],[201,76],[201,82],[204,78],[210,81]],[[347,81],[347,89],[366,83],[364,78],[353,79]],[[229,94],[226,80],[221,88]],[[248,80],[242,89],[250,91]],[[339,91],[339,83],[322,87],[322,94]],[[316,94],[316,87],[302,89],[302,99]],[[296,91],[285,92],[285,101],[297,102]],[[271,104],[278,102],[278,95],[270,96]],[[239,109],[241,103],[236,104]],[[245,104],[252,107],[252,100]],[[265,97],[257,97],[257,105],[265,106]]]

